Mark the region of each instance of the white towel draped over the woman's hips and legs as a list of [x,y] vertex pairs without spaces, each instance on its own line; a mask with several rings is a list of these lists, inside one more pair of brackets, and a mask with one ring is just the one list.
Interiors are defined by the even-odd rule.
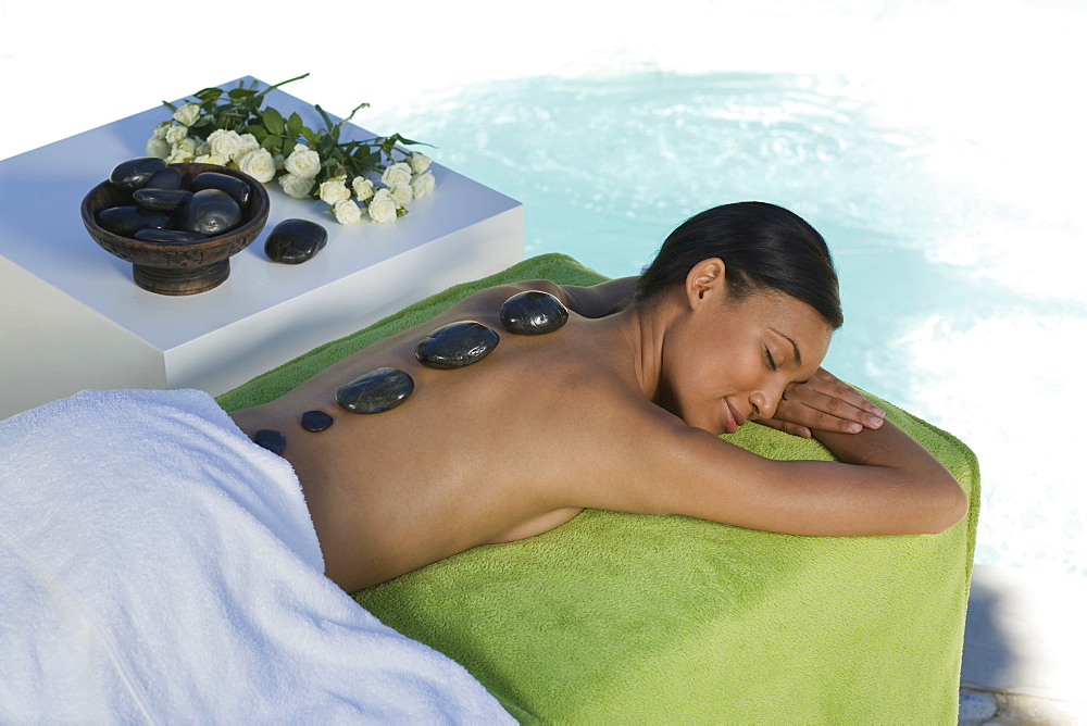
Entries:
[[323,571],[290,465],[207,393],[0,422],[0,722],[512,721]]

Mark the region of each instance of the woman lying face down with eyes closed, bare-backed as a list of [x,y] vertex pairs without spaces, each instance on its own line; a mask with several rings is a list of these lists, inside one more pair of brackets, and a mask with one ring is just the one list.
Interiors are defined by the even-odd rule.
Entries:
[[[503,333],[453,371],[416,361],[442,325],[503,330],[502,303],[529,289],[570,309],[561,329]],[[729,204],[680,225],[640,279],[491,288],[230,415],[251,437],[285,434],[325,572],[348,591],[585,508],[815,536],[952,526],[967,508],[955,479],[820,367],[840,325],[819,233],[778,206]],[[343,384],[384,366],[414,380],[402,405],[337,405]],[[335,424],[303,429],[313,410]],[[840,461],[771,461],[719,438],[749,421],[812,436]]]

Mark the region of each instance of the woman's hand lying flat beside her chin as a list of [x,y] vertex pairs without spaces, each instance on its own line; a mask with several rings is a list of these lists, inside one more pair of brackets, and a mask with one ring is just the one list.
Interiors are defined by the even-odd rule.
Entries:
[[773,418],[763,426],[810,439],[812,429],[860,434],[883,426],[886,414],[859,391],[820,368],[807,384],[786,391]]

